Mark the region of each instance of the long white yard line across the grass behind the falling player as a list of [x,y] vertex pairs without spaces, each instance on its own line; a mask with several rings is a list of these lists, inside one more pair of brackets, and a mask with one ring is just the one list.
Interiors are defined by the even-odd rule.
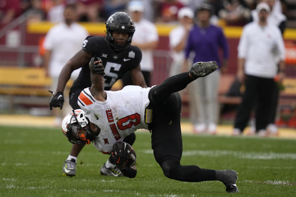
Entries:
[[[146,154],[153,154],[153,150],[139,150]],[[240,159],[296,159],[295,153],[275,153],[275,152],[244,152],[244,151],[183,151],[182,156],[209,156],[209,157],[222,157],[222,156],[235,156]]]

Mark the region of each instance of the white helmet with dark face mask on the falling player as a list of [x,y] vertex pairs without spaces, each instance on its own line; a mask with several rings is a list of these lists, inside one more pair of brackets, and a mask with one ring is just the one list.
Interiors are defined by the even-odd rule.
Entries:
[[[73,110],[67,114],[62,122],[63,134],[72,144],[90,144],[94,140],[94,134],[89,128],[89,120],[81,109]],[[85,136],[78,136],[80,129],[84,129]]]

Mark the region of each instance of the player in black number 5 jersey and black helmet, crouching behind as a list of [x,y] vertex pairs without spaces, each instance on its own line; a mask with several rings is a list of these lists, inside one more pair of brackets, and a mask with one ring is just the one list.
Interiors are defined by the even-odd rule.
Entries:
[[[73,70],[81,67],[77,79],[70,92],[69,101],[73,109],[79,109],[77,104],[80,92],[92,85],[88,63],[93,56],[100,57],[105,69],[105,90],[110,90],[113,84],[130,71],[134,85],[147,87],[140,68],[142,52],[137,46],[132,46],[135,31],[132,18],[125,12],[112,14],[106,22],[106,37],[88,36],[78,51],[61,70],[56,93],[50,100],[50,108],[60,107],[64,103],[63,92]],[[134,133],[125,137],[124,142],[132,145],[135,141]],[[77,156],[84,145],[73,144],[71,153],[63,166],[63,174],[76,175]],[[112,163],[111,159],[101,167],[101,174],[122,176],[121,171]]]

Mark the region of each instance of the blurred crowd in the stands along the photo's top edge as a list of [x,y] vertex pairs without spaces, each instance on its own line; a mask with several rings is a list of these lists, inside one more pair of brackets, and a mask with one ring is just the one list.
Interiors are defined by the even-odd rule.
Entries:
[[[77,4],[77,21],[105,22],[117,11],[126,11],[130,0],[1,0],[0,18],[7,24],[21,14],[27,13],[32,21],[63,21],[65,4]],[[252,18],[252,10],[260,0],[145,0],[143,17],[151,22],[176,22],[178,10],[184,6],[196,10],[202,3],[213,6],[213,21],[223,19],[228,25],[242,26]],[[295,2],[293,0],[270,0],[273,12],[288,17],[288,26],[295,27]]]

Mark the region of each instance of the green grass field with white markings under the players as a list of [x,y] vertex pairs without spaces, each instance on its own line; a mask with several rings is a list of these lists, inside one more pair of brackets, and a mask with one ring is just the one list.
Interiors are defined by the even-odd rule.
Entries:
[[108,159],[85,146],[76,176],[62,175],[72,144],[60,129],[1,127],[0,196],[296,196],[296,140],[183,135],[182,165],[239,172],[238,194],[219,181],[179,182],[155,162],[149,132],[136,132],[134,179],[100,175]]

